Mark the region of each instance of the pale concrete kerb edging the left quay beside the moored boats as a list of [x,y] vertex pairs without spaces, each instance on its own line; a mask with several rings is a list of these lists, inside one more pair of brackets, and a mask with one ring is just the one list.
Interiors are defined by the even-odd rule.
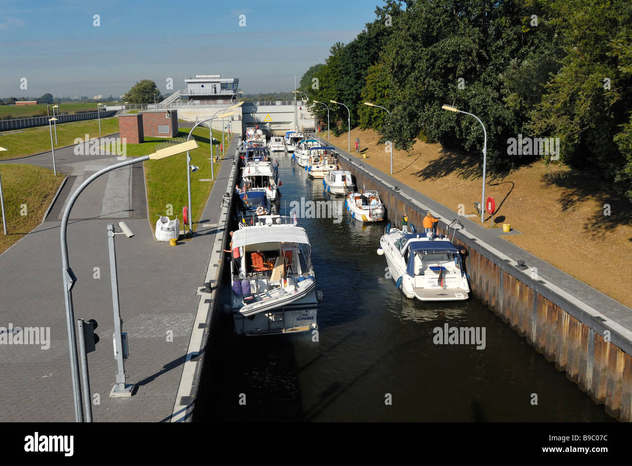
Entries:
[[[233,138],[233,141],[234,140],[235,138]],[[236,150],[235,157],[238,157]],[[227,162],[227,159],[228,158],[224,159],[224,162]],[[238,174],[238,165],[231,163],[229,166],[231,167],[231,173],[228,176],[228,183],[226,185],[227,192],[231,192],[231,187],[234,185],[234,177]],[[217,184],[216,186],[220,185]],[[222,193],[224,191],[218,192]],[[209,196],[207,205],[211,201],[211,198],[212,196]],[[198,304],[196,318],[193,323],[193,330],[191,331],[186,361],[184,363],[178,392],[176,394],[176,400],[174,402],[171,422],[192,421],[199,383],[202,378],[201,371],[202,367],[204,367],[204,349],[207,347],[209,335],[210,332],[212,332],[213,316],[219,311],[217,306],[221,304],[220,300],[217,299],[217,293],[219,292],[219,284],[222,273],[224,272],[224,261],[222,260],[224,255],[222,250],[226,248],[226,245],[228,244],[228,235],[226,235],[226,230],[230,220],[229,213],[233,208],[233,198],[234,196],[231,196],[231,201],[228,206],[223,205],[223,203],[220,205],[214,244],[212,246],[209,266],[204,279],[205,287],[198,287],[196,293],[200,296],[200,303]],[[214,252],[217,250],[216,248],[219,248],[219,253]],[[212,288],[213,283],[216,284],[216,287],[214,288]],[[211,288],[209,291],[207,291],[207,285]]]

